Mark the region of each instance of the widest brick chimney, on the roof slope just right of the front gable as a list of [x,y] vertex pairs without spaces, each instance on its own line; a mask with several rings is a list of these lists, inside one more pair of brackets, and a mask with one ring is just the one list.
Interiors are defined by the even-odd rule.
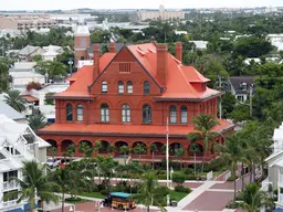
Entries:
[[157,44],[157,77],[165,86],[168,75],[168,45],[166,43]]

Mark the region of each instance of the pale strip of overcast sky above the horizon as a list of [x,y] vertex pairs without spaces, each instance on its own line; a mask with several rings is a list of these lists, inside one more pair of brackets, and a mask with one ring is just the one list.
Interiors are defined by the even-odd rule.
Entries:
[[283,7],[283,0],[1,0],[0,10]]

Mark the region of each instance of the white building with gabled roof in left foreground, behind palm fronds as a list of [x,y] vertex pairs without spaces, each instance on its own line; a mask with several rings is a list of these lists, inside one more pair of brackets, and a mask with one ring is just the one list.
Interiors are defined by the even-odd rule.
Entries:
[[15,123],[0,115],[0,211],[23,209],[25,202],[3,201],[2,197],[19,184],[9,181],[10,177],[22,177],[23,161],[46,161],[46,148],[50,145],[38,137],[25,124]]

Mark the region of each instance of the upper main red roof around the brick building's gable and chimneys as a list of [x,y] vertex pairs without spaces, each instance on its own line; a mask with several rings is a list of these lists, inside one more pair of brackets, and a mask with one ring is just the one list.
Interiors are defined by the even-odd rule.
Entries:
[[[157,83],[160,84],[157,76],[157,56],[156,44],[146,43],[127,46],[135,57],[143,64],[143,66],[151,74]],[[114,59],[115,53],[105,53],[99,60],[99,71],[104,68]],[[92,66],[83,66],[69,81],[74,83],[63,93],[55,96],[75,96],[75,97],[92,97],[88,94],[87,86],[93,83]],[[180,61],[168,53],[168,76],[166,82],[166,89],[158,98],[191,98],[202,99],[210,96],[220,95],[220,92],[208,88],[205,92],[197,91],[191,83],[207,83],[210,80],[202,76],[192,66],[184,66]]]

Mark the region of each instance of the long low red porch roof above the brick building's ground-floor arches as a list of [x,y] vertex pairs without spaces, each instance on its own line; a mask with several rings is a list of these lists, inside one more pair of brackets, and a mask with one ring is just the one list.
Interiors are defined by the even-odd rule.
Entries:
[[[222,131],[224,129],[230,129],[233,125],[226,120],[219,120],[220,125],[217,126],[213,131]],[[165,135],[166,127],[165,126],[154,126],[154,125],[107,125],[107,124],[53,124],[44,127],[40,130],[40,134],[49,132],[80,132],[80,134],[125,134],[125,135]],[[189,132],[193,131],[193,125],[189,126],[169,126],[169,135],[170,136],[186,136]]]

